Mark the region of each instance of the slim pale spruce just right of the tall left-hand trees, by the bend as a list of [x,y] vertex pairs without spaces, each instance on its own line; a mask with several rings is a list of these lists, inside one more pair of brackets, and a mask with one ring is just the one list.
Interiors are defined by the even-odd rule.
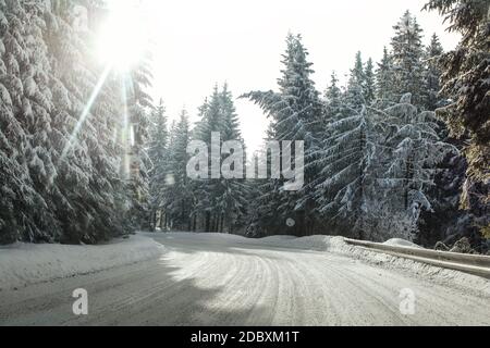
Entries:
[[151,228],[157,227],[157,216],[160,216],[163,208],[161,196],[167,185],[169,129],[167,127],[166,108],[160,99],[159,104],[152,110],[149,123],[149,141],[147,145],[148,157],[151,161],[149,171],[149,194],[151,207]]

